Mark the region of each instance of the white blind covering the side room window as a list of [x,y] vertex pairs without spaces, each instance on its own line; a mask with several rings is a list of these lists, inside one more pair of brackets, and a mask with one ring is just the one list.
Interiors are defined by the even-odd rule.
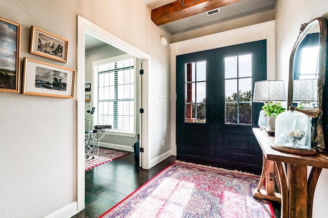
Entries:
[[134,132],[134,59],[95,66],[97,72],[97,124]]

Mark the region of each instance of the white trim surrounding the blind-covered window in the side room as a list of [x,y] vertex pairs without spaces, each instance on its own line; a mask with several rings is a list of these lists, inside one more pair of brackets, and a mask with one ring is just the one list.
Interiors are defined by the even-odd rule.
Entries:
[[[134,59],[134,68],[133,68],[133,75],[134,75],[134,85],[133,85],[133,90],[134,90],[134,96],[133,96],[133,104],[134,104],[134,113],[133,113],[133,133],[126,133],[126,132],[121,132],[119,130],[115,130],[115,129],[110,129],[110,130],[106,130],[106,135],[113,135],[113,136],[124,136],[124,137],[136,137],[137,135],[137,101],[136,101],[136,97],[137,97],[137,73],[136,73],[136,58],[133,57],[130,54],[124,54],[124,55],[118,55],[118,56],[114,56],[114,57],[109,57],[109,58],[105,58],[105,59],[101,59],[101,60],[95,60],[92,61],[92,84],[93,84],[93,102],[95,102],[98,105],[98,86],[97,86],[97,80],[98,80],[98,72],[95,72],[94,67],[99,66],[99,65],[103,65],[109,62],[115,62],[115,61],[120,61],[120,60],[126,60],[126,59]],[[93,114],[94,117],[94,123],[93,125],[96,125],[97,123],[97,108]],[[110,124],[112,125],[112,124]]]

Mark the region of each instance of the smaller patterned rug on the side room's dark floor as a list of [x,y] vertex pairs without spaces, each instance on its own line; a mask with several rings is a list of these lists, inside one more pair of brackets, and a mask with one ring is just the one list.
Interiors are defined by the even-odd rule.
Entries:
[[110,162],[117,158],[127,156],[129,154],[130,153],[126,151],[99,147],[99,156],[95,155],[94,159],[92,159],[91,156],[89,158],[85,158],[85,170]]

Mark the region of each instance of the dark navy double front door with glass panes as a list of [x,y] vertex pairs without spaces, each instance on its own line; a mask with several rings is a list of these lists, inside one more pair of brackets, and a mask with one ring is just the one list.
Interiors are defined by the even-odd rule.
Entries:
[[177,56],[178,156],[261,169],[252,127],[263,104],[252,90],[266,79],[266,53],[262,40]]

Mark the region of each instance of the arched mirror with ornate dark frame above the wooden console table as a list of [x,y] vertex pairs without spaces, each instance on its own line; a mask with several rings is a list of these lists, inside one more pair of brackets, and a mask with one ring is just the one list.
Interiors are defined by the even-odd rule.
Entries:
[[318,17],[301,25],[290,57],[288,84],[288,106],[294,105],[297,111],[314,118],[312,147],[319,152],[325,149],[322,116],[326,114],[323,113],[326,112],[326,102],[323,102],[326,98],[326,45],[325,18]]

